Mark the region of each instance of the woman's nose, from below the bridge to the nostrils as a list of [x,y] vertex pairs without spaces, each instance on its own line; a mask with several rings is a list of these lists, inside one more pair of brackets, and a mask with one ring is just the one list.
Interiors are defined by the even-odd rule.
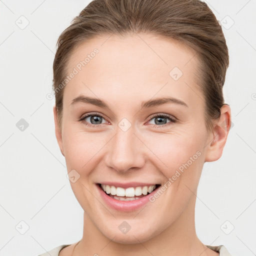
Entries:
[[123,131],[119,127],[108,143],[105,163],[118,172],[141,168],[144,165],[143,143],[130,127]]

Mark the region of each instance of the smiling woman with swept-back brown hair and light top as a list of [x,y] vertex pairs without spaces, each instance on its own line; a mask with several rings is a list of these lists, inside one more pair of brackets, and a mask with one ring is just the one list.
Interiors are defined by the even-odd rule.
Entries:
[[41,255],[230,255],[194,223],[230,128],[228,49],[199,0],[93,0],[58,38],[55,134],[82,238]]

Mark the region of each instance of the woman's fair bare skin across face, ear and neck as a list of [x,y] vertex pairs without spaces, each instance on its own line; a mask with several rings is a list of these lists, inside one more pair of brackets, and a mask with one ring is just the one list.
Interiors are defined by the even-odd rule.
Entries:
[[[59,255],[219,255],[198,239],[194,208],[203,163],[222,154],[231,122],[229,106],[222,106],[213,133],[207,132],[204,97],[195,80],[198,59],[175,40],[148,34],[98,36],[75,48],[67,73],[94,48],[99,52],[64,87],[60,126],[53,107],[57,142],[67,171],[75,169],[80,175],[70,185],[84,210],[81,240],[74,251],[76,243]],[[169,75],[175,66],[183,73],[176,81]],[[79,95],[100,98],[110,109],[71,104]],[[187,106],[140,108],[145,100],[166,96]],[[91,123],[90,117],[79,120],[90,112],[103,115],[101,124]],[[163,117],[159,124],[155,113],[177,121]],[[118,127],[123,118],[131,124],[127,131]],[[85,125],[86,121],[98,126]],[[139,210],[114,210],[96,189],[95,183],[103,181],[164,184],[197,151],[200,156]],[[118,229],[124,220],[131,226],[125,234]]]

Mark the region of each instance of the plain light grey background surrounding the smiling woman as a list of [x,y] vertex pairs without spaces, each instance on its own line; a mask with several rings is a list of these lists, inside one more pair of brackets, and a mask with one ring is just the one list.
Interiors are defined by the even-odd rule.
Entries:
[[[57,37],[88,2],[0,0],[2,256],[36,256],[82,236],[83,211],[56,142],[54,99],[46,94],[51,92]],[[224,96],[233,127],[222,157],[204,165],[196,231],[205,244],[224,244],[233,256],[252,256],[256,254],[256,1],[207,3],[222,23],[229,48]],[[28,123],[23,131],[16,126],[21,118]]]

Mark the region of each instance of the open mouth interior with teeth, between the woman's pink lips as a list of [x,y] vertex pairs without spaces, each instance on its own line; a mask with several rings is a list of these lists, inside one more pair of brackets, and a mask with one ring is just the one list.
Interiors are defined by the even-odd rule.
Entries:
[[97,184],[108,196],[116,200],[132,201],[152,193],[160,184],[135,187],[116,187],[114,185]]

